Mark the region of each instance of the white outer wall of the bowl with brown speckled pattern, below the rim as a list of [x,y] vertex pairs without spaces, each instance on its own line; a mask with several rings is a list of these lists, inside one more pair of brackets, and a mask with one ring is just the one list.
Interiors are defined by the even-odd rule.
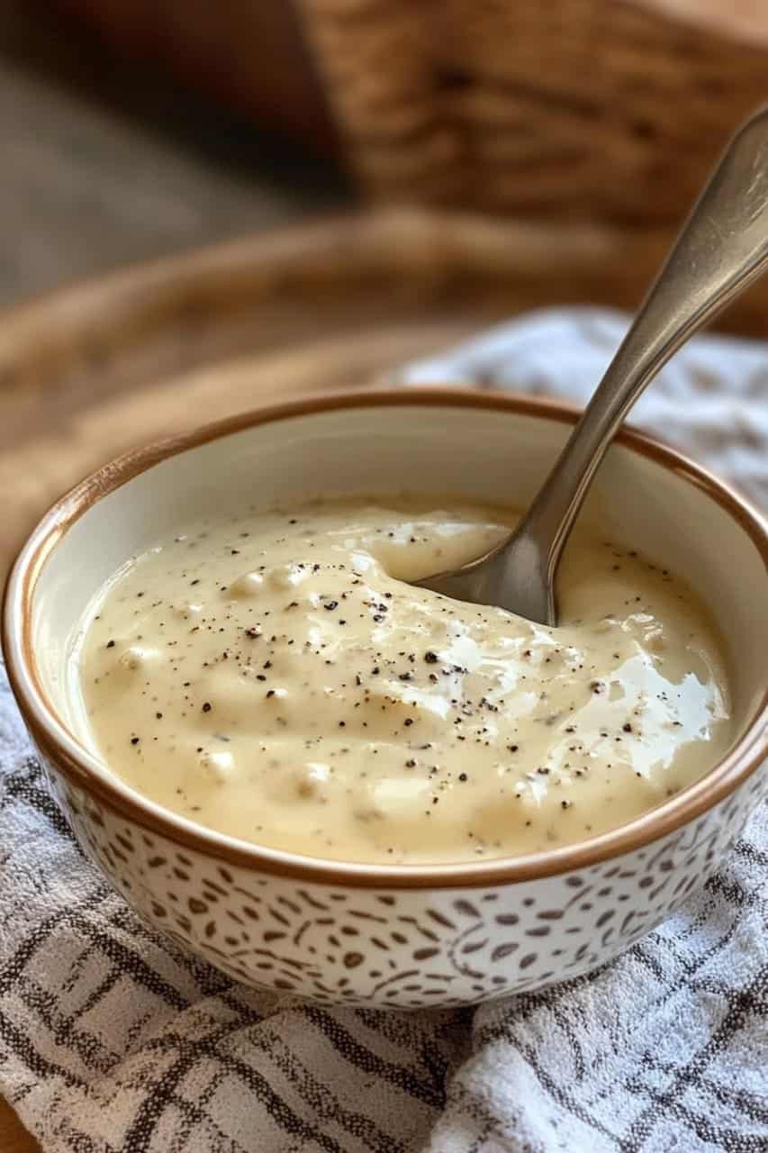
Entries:
[[763,764],[645,847],[530,881],[370,889],[243,867],[116,813],[43,755],[85,854],[159,932],[259,988],[400,1009],[488,1001],[611,960],[718,867],[768,796]]

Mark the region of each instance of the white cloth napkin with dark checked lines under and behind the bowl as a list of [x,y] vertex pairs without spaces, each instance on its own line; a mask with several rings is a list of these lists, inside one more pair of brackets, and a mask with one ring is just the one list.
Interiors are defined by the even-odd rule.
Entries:
[[[399,375],[582,401],[626,326],[535,314]],[[640,402],[768,503],[768,346],[702,338]],[[622,958],[474,1010],[248,990],[143,925],[50,800],[0,672],[0,1091],[50,1153],[768,1151],[768,828]]]

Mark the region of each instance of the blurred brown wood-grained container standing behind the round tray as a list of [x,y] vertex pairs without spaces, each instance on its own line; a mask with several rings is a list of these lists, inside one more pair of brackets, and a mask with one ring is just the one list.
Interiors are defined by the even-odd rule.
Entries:
[[[739,0],[718,3],[725,21],[738,13]],[[768,92],[768,45],[625,0],[300,6],[346,153],[376,197],[677,221]],[[713,0],[699,8],[711,15]]]

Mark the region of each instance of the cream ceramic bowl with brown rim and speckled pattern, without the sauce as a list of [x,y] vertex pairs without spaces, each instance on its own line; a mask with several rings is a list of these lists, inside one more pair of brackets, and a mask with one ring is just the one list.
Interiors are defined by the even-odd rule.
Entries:
[[310,399],[123,457],[44,517],[7,588],[8,672],[80,844],[148,921],[251,985],[325,1002],[452,1005],[610,960],[717,868],[768,791],[768,532],[714,477],[630,431],[610,450],[583,515],[706,597],[737,722],[728,756],[643,816],[514,859],[324,861],[165,812],[111,773],[83,723],[70,658],[81,615],[129,555],[181,522],[318,491],[452,491],[521,505],[574,419],[540,400],[453,387]]

